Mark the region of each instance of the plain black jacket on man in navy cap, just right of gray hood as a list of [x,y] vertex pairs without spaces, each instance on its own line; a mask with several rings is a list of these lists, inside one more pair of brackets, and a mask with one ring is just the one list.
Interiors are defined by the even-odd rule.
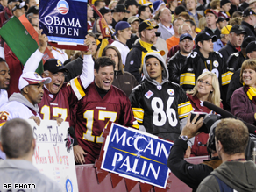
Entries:
[[171,57],[171,59],[167,63],[167,68],[169,72],[169,81],[176,82],[180,84],[180,75],[181,69],[185,65],[185,61],[187,60],[187,56],[183,56],[181,51],[178,51]]

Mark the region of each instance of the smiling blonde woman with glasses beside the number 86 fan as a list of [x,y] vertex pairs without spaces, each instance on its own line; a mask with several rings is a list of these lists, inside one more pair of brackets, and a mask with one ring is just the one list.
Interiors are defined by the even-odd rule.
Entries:
[[[194,89],[187,93],[188,99],[192,104],[193,110],[196,112],[214,113],[212,110],[203,106],[204,101],[208,101],[217,105],[217,107],[223,108],[220,100],[219,83],[217,75],[207,71],[197,78],[196,86]],[[198,143],[206,144],[208,134],[201,132],[195,137],[195,143],[192,146],[191,156],[208,155],[207,148],[205,146],[199,146]]]

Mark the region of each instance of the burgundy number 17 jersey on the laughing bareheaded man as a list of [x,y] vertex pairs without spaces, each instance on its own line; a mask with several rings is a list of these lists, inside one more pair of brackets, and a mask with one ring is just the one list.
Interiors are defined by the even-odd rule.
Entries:
[[75,136],[79,146],[87,153],[85,163],[94,163],[103,144],[103,129],[109,121],[128,127],[139,128],[132,114],[129,98],[124,92],[111,86],[101,98],[92,82],[76,105]]

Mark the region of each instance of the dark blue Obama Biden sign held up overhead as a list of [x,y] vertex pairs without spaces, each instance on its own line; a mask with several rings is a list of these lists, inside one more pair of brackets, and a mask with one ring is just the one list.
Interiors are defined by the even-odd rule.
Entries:
[[83,45],[87,34],[87,0],[40,0],[39,26],[49,41]]

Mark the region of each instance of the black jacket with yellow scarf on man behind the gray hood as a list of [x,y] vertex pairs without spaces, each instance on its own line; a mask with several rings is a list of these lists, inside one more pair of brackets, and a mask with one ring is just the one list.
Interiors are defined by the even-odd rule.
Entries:
[[[157,51],[157,49],[152,46],[152,50]],[[143,62],[143,58],[146,55],[146,48],[137,44],[132,46],[131,51],[127,54],[124,71],[128,71],[131,73],[137,80],[137,82],[141,82],[141,73],[139,72],[139,68]]]

